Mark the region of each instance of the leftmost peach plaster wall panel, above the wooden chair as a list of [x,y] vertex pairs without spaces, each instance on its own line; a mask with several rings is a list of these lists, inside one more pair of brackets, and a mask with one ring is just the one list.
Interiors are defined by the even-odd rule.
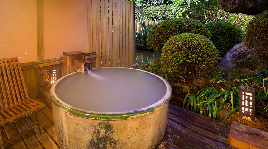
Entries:
[[36,0],[0,0],[0,58],[36,61]]

